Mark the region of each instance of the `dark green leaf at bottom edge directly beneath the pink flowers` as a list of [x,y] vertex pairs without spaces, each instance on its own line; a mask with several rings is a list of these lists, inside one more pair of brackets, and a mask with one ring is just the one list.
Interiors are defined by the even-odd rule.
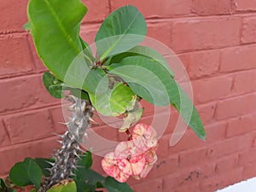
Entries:
[[133,192],[127,183],[119,183],[113,177],[106,177],[102,184],[108,192]]

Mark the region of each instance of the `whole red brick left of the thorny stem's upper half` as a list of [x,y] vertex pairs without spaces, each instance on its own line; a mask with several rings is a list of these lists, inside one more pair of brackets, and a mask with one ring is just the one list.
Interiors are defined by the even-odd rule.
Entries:
[[53,136],[53,125],[48,110],[37,110],[4,119],[12,143],[23,143]]

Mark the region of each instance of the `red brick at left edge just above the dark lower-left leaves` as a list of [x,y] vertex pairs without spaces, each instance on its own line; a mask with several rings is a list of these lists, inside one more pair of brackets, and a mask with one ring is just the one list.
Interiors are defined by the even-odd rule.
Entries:
[[0,150],[0,174],[7,174],[12,166],[19,161],[23,161],[26,157],[49,157],[53,153],[54,148],[59,148],[56,142],[58,137],[49,137],[44,140],[38,140],[32,143],[24,143],[9,148],[1,148]]

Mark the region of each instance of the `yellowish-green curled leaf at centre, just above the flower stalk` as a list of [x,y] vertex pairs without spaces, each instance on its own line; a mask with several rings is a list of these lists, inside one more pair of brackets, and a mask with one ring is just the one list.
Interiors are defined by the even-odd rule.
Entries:
[[[101,90],[101,89],[100,89]],[[135,93],[125,84],[116,82],[113,89],[102,94],[91,95],[90,101],[99,113],[105,116],[118,116],[125,113]]]

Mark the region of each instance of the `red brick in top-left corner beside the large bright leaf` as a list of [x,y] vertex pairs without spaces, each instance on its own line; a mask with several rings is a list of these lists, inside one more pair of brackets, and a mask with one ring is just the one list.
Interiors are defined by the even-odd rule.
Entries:
[[27,1],[15,0],[3,1],[1,3],[0,32],[24,31],[22,26],[26,23]]

